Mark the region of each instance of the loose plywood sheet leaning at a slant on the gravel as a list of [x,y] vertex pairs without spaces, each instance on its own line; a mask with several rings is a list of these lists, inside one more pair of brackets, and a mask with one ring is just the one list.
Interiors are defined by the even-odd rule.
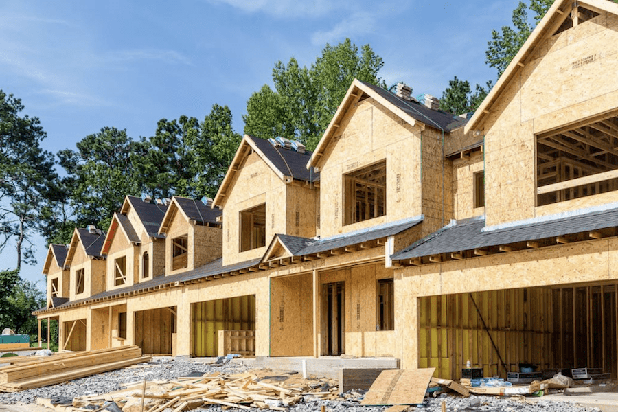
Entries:
[[363,405],[411,405],[423,402],[435,367],[386,370],[376,378]]

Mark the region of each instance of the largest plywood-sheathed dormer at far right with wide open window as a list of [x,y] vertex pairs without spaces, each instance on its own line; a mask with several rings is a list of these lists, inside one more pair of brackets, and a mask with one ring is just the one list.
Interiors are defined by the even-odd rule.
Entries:
[[466,126],[488,227],[618,202],[618,4],[558,0]]

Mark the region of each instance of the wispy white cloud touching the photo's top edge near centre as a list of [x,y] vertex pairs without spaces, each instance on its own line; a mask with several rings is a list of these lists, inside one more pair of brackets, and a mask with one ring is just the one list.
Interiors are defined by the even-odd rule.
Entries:
[[209,0],[211,3],[224,3],[244,12],[263,12],[276,17],[323,16],[341,3],[328,0]]

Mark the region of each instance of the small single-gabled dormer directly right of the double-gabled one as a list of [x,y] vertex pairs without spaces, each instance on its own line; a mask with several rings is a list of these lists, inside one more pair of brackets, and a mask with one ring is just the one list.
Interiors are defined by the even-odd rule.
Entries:
[[172,198],[159,227],[159,235],[165,236],[166,275],[192,271],[221,257],[220,216],[211,199]]

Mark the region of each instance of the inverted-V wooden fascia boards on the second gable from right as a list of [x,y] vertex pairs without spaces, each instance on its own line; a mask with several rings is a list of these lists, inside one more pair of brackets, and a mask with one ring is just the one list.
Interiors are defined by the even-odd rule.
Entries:
[[347,93],[345,93],[345,97],[341,101],[341,104],[339,104],[337,111],[332,117],[330,124],[328,124],[328,128],[326,128],[326,131],[324,132],[324,135],[320,139],[318,146],[315,148],[313,154],[311,155],[311,158],[309,159],[307,163],[307,168],[310,168],[312,166],[316,168],[319,167],[321,158],[323,157],[323,153],[325,152],[326,148],[328,147],[328,144],[330,143],[330,140],[332,139],[332,134],[334,133],[334,129],[339,128],[339,126],[336,126],[336,125],[339,124],[339,122],[341,121],[341,117],[343,117],[345,112],[348,111],[348,109],[350,108],[350,104],[353,102],[353,100],[357,100],[360,97],[360,94],[353,93],[353,91],[356,91],[356,89],[358,89],[358,91],[362,91],[363,93],[367,93],[369,96],[371,96],[371,98],[376,100],[376,102],[388,108],[389,111],[391,111],[392,113],[400,117],[402,120],[404,120],[404,122],[407,122],[410,126],[415,126],[416,119],[414,119],[413,117],[411,117],[410,115],[402,111],[397,106],[393,105],[391,102],[387,101],[385,98],[382,98],[382,96],[376,93],[373,89],[365,86],[363,82],[359,81],[358,79],[354,79],[354,81],[350,85],[350,88],[347,89]]

